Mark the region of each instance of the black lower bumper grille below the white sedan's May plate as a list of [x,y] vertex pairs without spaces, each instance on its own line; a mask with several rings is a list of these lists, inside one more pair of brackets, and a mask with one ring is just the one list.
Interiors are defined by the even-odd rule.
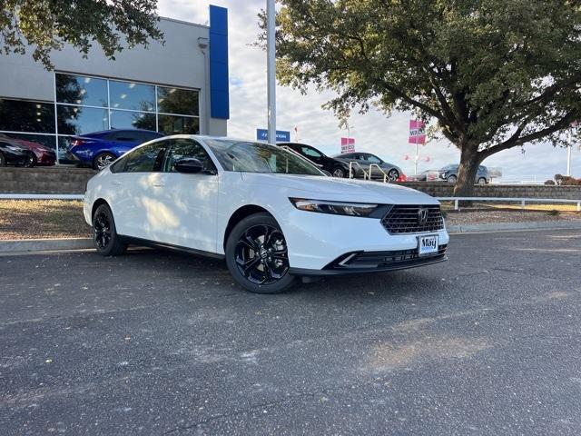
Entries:
[[393,268],[398,269],[407,266],[415,266],[421,263],[431,263],[434,260],[444,258],[447,244],[438,245],[438,253],[420,256],[417,248],[410,250],[394,250],[389,252],[360,252],[342,255],[336,261],[325,267],[327,270],[348,269],[373,269]]

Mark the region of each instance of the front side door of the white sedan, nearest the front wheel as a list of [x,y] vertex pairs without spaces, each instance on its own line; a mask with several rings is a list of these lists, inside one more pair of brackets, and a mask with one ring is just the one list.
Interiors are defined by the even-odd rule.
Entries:
[[[201,173],[175,170],[176,162],[188,158],[202,162]],[[157,184],[156,207],[164,216],[162,242],[215,253],[219,176],[202,145],[190,138],[172,139]],[[151,228],[155,224],[149,223]]]

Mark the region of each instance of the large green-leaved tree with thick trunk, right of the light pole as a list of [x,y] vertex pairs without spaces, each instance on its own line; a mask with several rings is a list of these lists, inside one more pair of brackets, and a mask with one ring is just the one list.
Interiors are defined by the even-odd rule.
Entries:
[[280,3],[280,83],[336,92],[325,107],[340,117],[373,104],[430,122],[460,151],[457,196],[473,192],[488,156],[563,144],[581,118],[578,0]]

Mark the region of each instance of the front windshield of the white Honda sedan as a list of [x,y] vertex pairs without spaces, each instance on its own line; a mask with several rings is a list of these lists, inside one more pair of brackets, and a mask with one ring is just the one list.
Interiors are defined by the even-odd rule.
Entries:
[[225,171],[325,175],[297,154],[271,144],[205,139]]

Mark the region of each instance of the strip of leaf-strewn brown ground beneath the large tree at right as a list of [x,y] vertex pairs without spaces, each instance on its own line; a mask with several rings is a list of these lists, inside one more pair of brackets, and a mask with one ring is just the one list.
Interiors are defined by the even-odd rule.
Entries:
[[533,221],[579,221],[581,213],[558,213],[548,212],[528,212],[528,211],[470,211],[470,212],[448,212],[446,223],[448,225],[458,224],[481,224],[481,223],[530,223]]

